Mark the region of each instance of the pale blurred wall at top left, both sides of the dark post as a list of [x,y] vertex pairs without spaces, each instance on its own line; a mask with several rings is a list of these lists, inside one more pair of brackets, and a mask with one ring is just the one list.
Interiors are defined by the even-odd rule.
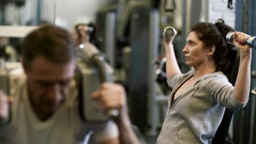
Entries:
[[15,4],[8,4],[5,20],[11,25],[26,25],[28,21],[33,23],[38,17],[38,2],[41,20],[54,22],[56,10],[57,24],[71,29],[79,17],[89,17],[94,21],[98,9],[117,3],[117,0],[26,0],[26,4],[21,8],[17,8]]

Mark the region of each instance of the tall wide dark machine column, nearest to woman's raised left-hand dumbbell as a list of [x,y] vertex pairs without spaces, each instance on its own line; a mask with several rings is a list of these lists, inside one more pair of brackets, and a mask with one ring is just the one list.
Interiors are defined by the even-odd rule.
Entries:
[[[135,7],[130,20],[130,69],[127,71],[130,117],[141,130],[148,125],[150,134],[156,135],[158,105],[156,101],[156,65],[159,44],[159,13],[149,7]],[[148,125],[147,125],[148,124]]]

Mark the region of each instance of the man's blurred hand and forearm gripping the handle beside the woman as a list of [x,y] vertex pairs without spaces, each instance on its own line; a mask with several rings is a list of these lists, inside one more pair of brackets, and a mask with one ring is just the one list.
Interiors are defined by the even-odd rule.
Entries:
[[110,109],[119,110],[120,114],[115,120],[118,124],[120,143],[140,143],[132,129],[123,86],[116,83],[102,83],[101,88],[92,94],[92,98],[98,100],[105,111]]

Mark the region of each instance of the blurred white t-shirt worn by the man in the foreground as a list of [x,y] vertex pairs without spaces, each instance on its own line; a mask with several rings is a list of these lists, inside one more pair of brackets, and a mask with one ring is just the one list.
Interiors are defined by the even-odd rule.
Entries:
[[[20,81],[20,80],[19,80]],[[73,91],[65,102],[47,121],[42,122],[34,114],[28,101],[25,79],[10,80],[11,122],[0,127],[0,143],[45,144],[45,143],[86,143],[86,135],[94,135],[96,142],[118,137],[118,127],[112,122],[86,123],[80,118],[78,96]],[[74,90],[74,89],[73,89]]]

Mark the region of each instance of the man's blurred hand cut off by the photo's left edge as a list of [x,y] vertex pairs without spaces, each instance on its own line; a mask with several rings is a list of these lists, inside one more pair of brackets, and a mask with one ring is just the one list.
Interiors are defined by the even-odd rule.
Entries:
[[8,122],[9,105],[11,103],[13,103],[13,99],[7,97],[7,95],[0,90],[0,124]]

